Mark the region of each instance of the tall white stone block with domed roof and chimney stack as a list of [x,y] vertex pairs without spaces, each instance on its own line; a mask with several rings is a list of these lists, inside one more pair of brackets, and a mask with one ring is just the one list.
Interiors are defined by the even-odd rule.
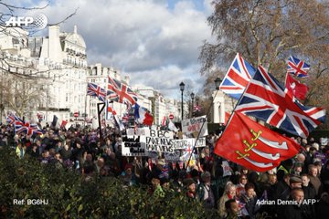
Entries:
[[[30,38],[30,41],[37,40]],[[32,44],[33,45],[33,44]],[[73,120],[74,112],[83,118],[87,92],[87,55],[86,44],[74,26],[73,33],[61,33],[59,26],[49,26],[48,37],[39,42],[38,69],[45,71],[47,90],[45,104],[46,120],[53,115],[58,120]],[[33,45],[37,48],[38,45]],[[30,46],[31,47],[31,46]],[[48,72],[47,72],[48,71]]]

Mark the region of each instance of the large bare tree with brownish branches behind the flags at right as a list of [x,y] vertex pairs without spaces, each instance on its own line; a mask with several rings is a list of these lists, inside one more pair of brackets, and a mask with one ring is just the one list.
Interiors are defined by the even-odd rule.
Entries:
[[[311,65],[305,100],[329,109],[329,2],[317,0],[215,0],[207,21],[217,42],[205,41],[201,74],[213,77],[239,52],[251,65],[262,65],[281,81],[291,55]],[[217,74],[217,73],[216,73]]]

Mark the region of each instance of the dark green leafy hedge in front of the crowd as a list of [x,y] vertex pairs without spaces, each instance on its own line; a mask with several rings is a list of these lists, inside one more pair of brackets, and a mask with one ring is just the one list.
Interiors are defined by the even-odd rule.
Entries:
[[[80,174],[0,150],[0,218],[214,218],[185,193],[147,193],[146,186],[123,187],[114,177]],[[40,199],[48,204],[14,204],[14,199]]]

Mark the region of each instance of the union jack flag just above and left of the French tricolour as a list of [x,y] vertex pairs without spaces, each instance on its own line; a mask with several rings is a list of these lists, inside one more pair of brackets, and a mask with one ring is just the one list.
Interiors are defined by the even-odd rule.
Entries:
[[109,78],[107,96],[111,100],[115,100],[127,105],[133,105],[137,101],[137,95],[133,92],[132,89],[128,88],[122,82]]

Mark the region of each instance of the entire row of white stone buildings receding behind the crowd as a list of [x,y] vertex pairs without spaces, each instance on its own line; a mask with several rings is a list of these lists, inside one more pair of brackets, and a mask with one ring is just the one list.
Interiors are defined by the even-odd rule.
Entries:
[[[88,82],[107,89],[110,75],[130,85],[130,78],[115,68],[102,67],[100,63],[88,66],[86,43],[77,26],[72,33],[60,32],[59,26],[49,26],[48,36],[29,37],[19,28],[7,28],[7,31],[9,34],[0,32],[0,48],[1,56],[15,67],[7,67],[8,70],[38,77],[33,83],[41,98],[26,109],[27,120],[37,120],[37,112],[48,122],[54,115],[59,123],[75,120],[74,112],[79,112],[78,120],[84,120],[85,116],[96,118],[100,101],[86,95]],[[1,65],[4,67],[4,62]],[[3,75],[5,71],[0,73]],[[160,92],[149,87],[133,88],[133,91],[138,95],[137,103],[154,115],[154,124],[160,125],[164,116],[170,114],[174,115],[174,121],[180,120],[180,105],[176,100],[164,99]],[[125,104],[113,102],[111,105],[120,118],[128,112]],[[5,106],[5,111],[10,110],[10,106]],[[3,120],[5,111],[1,115]]]

